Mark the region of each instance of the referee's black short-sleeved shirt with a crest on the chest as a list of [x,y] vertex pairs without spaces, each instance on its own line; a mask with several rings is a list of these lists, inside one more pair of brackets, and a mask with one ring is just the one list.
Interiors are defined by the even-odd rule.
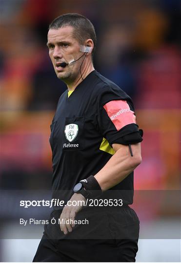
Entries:
[[[97,71],[91,72],[70,97],[67,93],[66,91],[60,96],[50,135],[53,162],[52,198],[65,202],[71,198],[73,188],[80,180],[90,174],[95,175],[112,157],[100,150],[103,137],[110,145],[126,144],[127,135],[133,132],[137,134],[139,131],[135,123],[126,125],[119,131],[116,129],[103,106],[112,100],[123,100],[134,112],[133,102],[120,87]],[[74,135],[71,132],[74,132]],[[125,199],[128,204],[132,204],[133,172],[111,189],[129,190]],[[103,197],[106,198],[105,192],[101,198]],[[119,197],[118,194],[117,198]]]

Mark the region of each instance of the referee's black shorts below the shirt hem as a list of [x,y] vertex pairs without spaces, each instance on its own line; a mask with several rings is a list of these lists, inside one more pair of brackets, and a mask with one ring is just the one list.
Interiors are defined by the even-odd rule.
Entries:
[[[75,226],[66,236],[59,225],[48,225],[33,262],[135,262],[140,222],[133,209],[91,215],[81,211],[76,219],[88,217],[92,223]],[[57,220],[60,211],[54,211],[50,220],[53,217]]]

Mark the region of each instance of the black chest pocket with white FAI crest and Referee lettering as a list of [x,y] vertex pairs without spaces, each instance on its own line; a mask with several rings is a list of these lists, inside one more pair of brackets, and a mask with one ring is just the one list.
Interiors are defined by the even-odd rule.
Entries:
[[84,116],[66,118],[63,135],[62,150],[83,149]]

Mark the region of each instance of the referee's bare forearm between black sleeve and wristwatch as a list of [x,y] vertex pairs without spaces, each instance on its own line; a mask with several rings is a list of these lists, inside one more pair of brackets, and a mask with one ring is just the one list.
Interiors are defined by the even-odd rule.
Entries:
[[105,166],[95,175],[102,191],[105,191],[119,184],[128,174],[130,174],[141,163],[141,144],[131,146],[133,156],[129,147],[115,145],[116,152],[105,164]]

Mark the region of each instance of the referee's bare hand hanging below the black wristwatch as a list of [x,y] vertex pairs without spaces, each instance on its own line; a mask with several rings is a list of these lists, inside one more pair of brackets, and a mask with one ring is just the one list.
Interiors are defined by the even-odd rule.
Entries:
[[72,228],[75,226],[75,216],[85,205],[85,201],[86,199],[83,195],[80,193],[74,193],[71,199],[67,202],[67,205],[63,208],[60,215],[60,222],[62,222],[62,224],[60,223],[60,229],[65,235],[68,231],[72,232]]

